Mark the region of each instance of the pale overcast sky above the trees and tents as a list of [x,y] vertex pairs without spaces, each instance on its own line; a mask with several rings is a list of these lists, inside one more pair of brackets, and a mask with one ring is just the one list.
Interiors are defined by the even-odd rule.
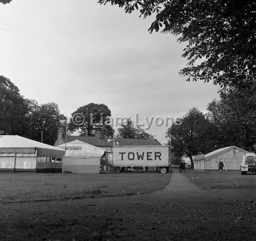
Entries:
[[[218,88],[178,75],[184,45],[149,34],[152,21],[97,0],[12,0],[0,5],[0,75],[26,98],[56,102],[68,118],[90,102],[108,105],[112,116],[138,113],[140,123],[192,107],[205,112]],[[166,129],[147,131],[161,141]]]

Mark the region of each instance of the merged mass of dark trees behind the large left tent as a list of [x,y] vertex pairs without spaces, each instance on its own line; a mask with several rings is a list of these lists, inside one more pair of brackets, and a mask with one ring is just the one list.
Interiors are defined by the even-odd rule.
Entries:
[[10,79],[0,76],[0,134],[20,135],[53,145],[58,128],[67,117],[54,102],[39,105],[35,100],[24,99]]

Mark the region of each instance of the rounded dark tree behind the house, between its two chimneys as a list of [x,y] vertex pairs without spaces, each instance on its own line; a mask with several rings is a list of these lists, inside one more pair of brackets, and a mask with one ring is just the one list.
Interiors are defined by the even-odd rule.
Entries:
[[[79,113],[82,115],[76,119]],[[70,131],[78,130],[81,136],[94,136],[95,131],[101,130],[102,136],[113,136],[113,127],[105,124],[111,116],[111,110],[107,105],[90,103],[79,107],[71,115],[72,118],[68,124]]]

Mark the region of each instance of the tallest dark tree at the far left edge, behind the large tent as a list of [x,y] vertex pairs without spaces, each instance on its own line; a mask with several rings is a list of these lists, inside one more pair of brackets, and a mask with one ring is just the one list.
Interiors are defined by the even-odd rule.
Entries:
[[10,79],[0,76],[0,134],[22,135],[26,101]]

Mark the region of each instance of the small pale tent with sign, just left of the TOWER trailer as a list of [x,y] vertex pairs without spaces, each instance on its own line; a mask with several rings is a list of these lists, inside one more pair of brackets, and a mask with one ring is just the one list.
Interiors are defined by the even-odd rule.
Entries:
[[100,157],[104,155],[104,149],[79,140],[58,147],[67,149],[62,159],[62,173],[99,173]]

